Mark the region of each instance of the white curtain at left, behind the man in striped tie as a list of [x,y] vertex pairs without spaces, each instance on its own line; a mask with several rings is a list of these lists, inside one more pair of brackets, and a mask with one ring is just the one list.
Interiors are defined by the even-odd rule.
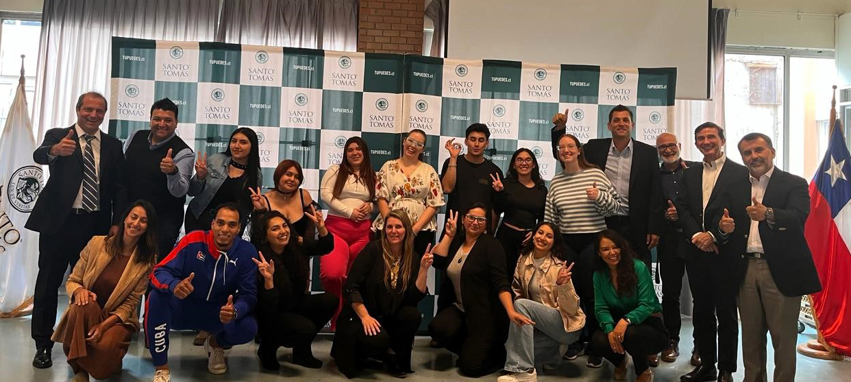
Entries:
[[80,94],[109,98],[112,36],[214,41],[218,13],[219,0],[45,0],[32,103],[37,139],[77,119]]

